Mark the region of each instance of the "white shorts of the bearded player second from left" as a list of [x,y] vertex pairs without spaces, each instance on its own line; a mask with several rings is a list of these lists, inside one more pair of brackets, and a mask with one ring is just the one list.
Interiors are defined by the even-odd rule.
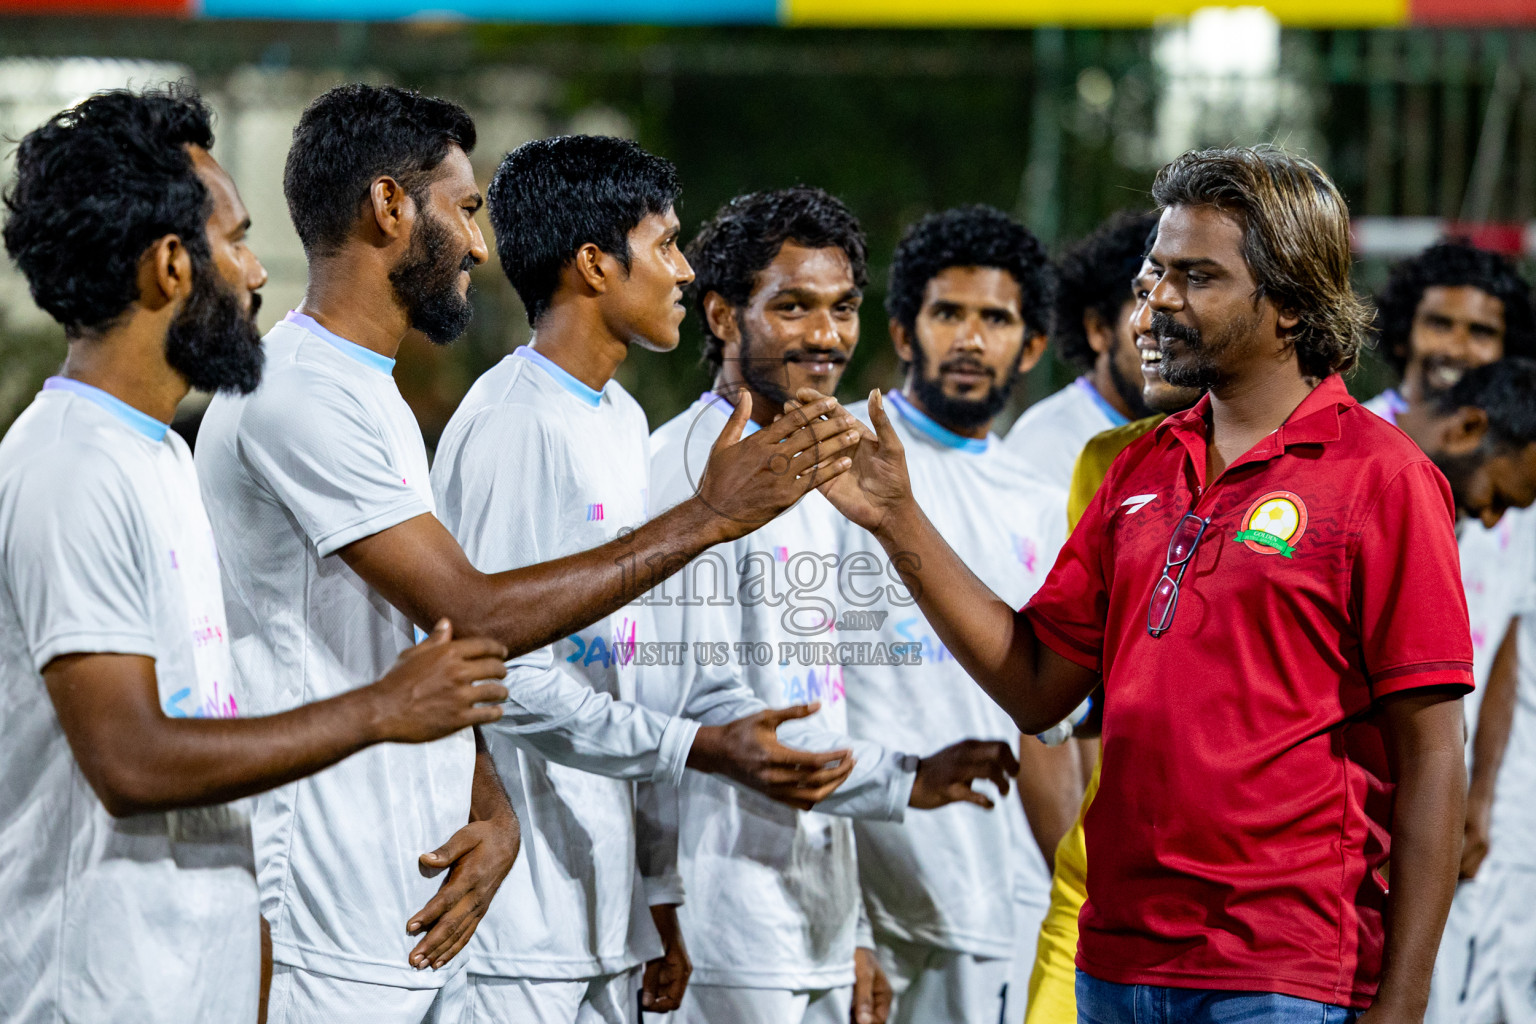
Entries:
[[267,1024],[455,1024],[464,972],[441,989],[401,989],[272,964]]

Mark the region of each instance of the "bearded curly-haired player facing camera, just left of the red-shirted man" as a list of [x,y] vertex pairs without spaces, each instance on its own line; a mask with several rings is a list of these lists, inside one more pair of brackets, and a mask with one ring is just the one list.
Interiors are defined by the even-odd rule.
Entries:
[[[966,565],[1015,606],[1044,580],[1066,537],[1066,496],[1018,471],[991,425],[1044,353],[1051,278],[1029,230],[1000,210],[963,207],[908,229],[885,302],[906,367],[886,401],[912,493]],[[849,411],[868,416],[865,404]],[[854,534],[846,551],[876,562],[879,542],[859,528]],[[911,605],[905,593],[868,605],[886,613],[872,639],[917,640],[922,663],[845,668],[852,734],[897,746],[966,735],[1018,742],[1014,723]],[[1026,737],[1018,760],[1021,800],[998,812],[955,806],[854,826],[865,909],[895,992],[894,1021],[1023,1018],[1049,863],[1081,781],[1072,745]]]

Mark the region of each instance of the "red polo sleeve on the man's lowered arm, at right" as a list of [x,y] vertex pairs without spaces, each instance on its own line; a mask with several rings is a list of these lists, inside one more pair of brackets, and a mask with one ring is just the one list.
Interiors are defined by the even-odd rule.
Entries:
[[1410,462],[1361,524],[1352,588],[1373,697],[1421,686],[1471,689],[1471,626],[1450,485]]

